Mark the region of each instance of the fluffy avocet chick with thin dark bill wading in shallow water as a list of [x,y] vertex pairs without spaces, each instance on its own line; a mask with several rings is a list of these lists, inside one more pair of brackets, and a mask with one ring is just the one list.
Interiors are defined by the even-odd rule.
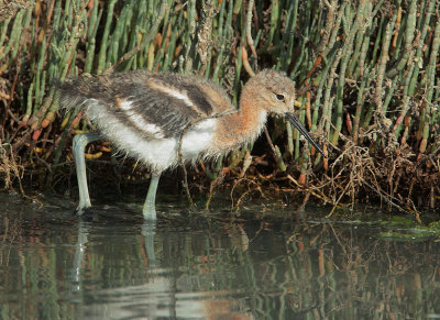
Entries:
[[143,207],[156,219],[155,197],[161,173],[182,161],[227,154],[254,141],[267,115],[286,119],[322,153],[294,113],[295,88],[283,73],[263,70],[242,89],[239,110],[218,85],[195,76],[129,71],[70,78],[59,85],[61,104],[80,108],[99,133],[78,134],[74,156],[79,186],[79,214],[90,207],[85,147],[106,139],[152,170]]

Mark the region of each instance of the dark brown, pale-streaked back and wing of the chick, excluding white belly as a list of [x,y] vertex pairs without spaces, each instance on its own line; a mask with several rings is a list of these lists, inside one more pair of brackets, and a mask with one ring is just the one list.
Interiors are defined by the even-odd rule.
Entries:
[[105,135],[109,123],[120,122],[145,140],[178,136],[205,119],[237,112],[221,87],[172,73],[75,77],[58,87],[62,107],[82,109]]

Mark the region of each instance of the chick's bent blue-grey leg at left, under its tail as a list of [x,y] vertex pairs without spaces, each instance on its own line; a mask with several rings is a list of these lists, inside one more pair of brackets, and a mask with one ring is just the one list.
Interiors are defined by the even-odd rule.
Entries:
[[76,209],[77,213],[81,216],[87,208],[91,207],[89,189],[87,187],[86,176],[86,158],[85,148],[90,142],[100,140],[101,136],[98,133],[82,133],[77,134],[74,137],[73,152],[76,164],[76,177],[78,179],[79,188],[79,205]]

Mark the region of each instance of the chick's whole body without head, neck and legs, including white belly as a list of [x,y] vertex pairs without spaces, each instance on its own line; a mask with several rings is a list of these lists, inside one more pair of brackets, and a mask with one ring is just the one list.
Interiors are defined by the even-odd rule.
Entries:
[[217,85],[193,76],[130,71],[58,85],[65,109],[81,109],[119,151],[154,172],[216,156],[218,118],[237,112]]

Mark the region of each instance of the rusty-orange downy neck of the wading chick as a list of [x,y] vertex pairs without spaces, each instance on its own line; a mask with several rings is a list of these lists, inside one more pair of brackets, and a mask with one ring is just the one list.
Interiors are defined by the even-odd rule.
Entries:
[[266,124],[267,111],[255,103],[255,95],[246,87],[240,97],[239,112],[219,119],[217,139],[228,150],[254,141]]

